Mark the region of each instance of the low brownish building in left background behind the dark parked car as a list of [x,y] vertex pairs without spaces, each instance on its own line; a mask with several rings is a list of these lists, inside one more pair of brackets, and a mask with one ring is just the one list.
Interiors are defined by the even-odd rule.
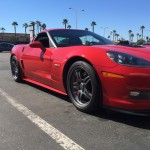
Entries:
[[0,42],[9,42],[14,44],[19,43],[29,43],[30,42],[30,34],[22,34],[22,33],[0,33]]

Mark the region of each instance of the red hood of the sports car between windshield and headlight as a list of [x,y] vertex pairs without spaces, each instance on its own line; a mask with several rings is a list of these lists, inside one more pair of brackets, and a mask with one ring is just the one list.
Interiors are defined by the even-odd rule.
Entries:
[[122,52],[150,61],[150,47],[127,47],[120,45],[96,45],[93,47],[104,49],[106,51]]

